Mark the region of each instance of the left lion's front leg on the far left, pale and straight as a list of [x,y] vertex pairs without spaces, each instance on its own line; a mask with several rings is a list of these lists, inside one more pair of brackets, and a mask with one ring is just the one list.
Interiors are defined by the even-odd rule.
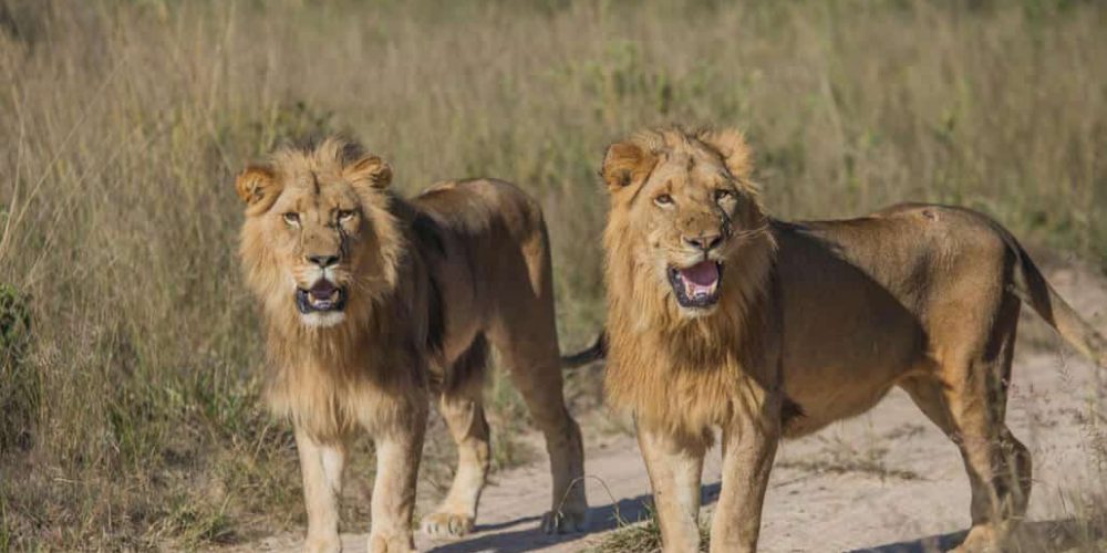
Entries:
[[308,510],[308,538],[303,551],[341,551],[339,540],[339,497],[342,493],[342,468],[345,445],[323,442],[297,427],[296,448],[300,453],[303,499]]

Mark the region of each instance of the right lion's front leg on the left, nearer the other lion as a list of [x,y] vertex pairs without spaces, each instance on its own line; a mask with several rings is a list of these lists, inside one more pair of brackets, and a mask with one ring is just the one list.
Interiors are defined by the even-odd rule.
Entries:
[[664,551],[700,551],[700,479],[706,439],[640,424],[638,444],[653,488]]

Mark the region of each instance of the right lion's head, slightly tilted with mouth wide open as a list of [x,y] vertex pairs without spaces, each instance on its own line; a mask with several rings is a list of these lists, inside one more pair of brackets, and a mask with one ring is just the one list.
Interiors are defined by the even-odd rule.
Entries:
[[[635,265],[684,316],[711,314],[727,267],[765,227],[737,133],[649,133],[608,149],[603,177]],[[642,275],[640,275],[642,276]]]

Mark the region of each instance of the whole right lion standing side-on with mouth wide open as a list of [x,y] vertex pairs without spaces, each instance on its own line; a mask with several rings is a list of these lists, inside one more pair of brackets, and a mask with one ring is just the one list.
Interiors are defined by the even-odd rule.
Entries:
[[1107,365],[1107,343],[985,216],[903,205],[842,221],[765,213],[734,131],[646,131],[612,145],[604,353],[632,411],[665,551],[700,550],[703,459],[722,434],[711,550],[753,551],[782,437],[865,413],[893,386],[960,448],[964,551],[1003,551],[1026,512],[1027,449],[1004,425],[1023,302]]

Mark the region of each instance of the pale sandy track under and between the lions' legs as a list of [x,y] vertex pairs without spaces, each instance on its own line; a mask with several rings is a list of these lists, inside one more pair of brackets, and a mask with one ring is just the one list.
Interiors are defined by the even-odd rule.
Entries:
[[[1048,273],[1063,295],[1107,330],[1103,280],[1070,269]],[[1024,315],[1024,321],[1031,317]],[[1033,549],[1065,550],[1086,531],[1078,519],[1088,512],[1088,502],[1107,497],[1103,480],[1107,375],[1057,348],[1042,325],[1025,326],[1031,327],[1016,354],[1007,420],[1034,459],[1026,526],[1048,544]],[[639,520],[650,486],[637,444],[624,434],[586,428],[586,435],[588,498],[593,507],[589,533],[546,536],[538,531],[549,498],[548,465],[542,459],[493,477],[482,499],[476,533],[455,542],[417,535],[420,551],[581,551],[615,528],[618,517]],[[718,470],[716,448],[704,470],[707,512],[717,495]],[[861,417],[783,444],[766,498],[761,550],[940,551],[956,544],[969,526],[969,499],[956,448],[906,394],[894,390]],[[238,549],[296,551],[299,539],[286,534]],[[344,549],[364,551],[365,540],[345,534]]]

